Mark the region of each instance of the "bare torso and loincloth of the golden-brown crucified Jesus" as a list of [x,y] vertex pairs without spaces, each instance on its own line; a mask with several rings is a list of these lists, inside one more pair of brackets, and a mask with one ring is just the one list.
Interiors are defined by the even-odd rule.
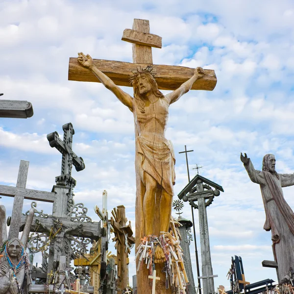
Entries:
[[[174,152],[172,142],[165,138],[169,118],[169,101],[166,97],[145,100],[142,112],[136,99],[133,100],[133,114],[137,130],[136,151],[140,162],[140,177],[145,182],[144,172],[151,175],[165,191],[173,196]],[[140,156],[138,156],[140,155]]]

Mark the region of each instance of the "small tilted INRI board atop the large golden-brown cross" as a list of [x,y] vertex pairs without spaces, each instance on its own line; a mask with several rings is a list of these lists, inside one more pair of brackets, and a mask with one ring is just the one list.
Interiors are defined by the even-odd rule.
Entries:
[[123,31],[122,40],[125,42],[154,47],[154,48],[162,47],[162,37],[159,37],[154,34],[140,32],[135,29],[126,28]]

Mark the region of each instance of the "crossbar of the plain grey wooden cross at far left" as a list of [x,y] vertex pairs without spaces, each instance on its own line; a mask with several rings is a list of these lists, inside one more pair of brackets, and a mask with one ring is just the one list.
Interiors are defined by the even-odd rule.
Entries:
[[53,203],[55,200],[55,193],[38,191],[25,188],[10,187],[5,185],[0,185],[0,195],[14,197],[14,196],[24,196],[25,199],[29,200],[40,200],[44,202]]

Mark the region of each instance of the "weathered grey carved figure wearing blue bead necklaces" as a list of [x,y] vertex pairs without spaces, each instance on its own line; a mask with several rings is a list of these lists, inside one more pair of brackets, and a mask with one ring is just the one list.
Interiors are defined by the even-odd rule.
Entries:
[[[0,205],[0,294],[26,293],[31,283],[29,261],[25,252],[34,209],[30,209],[21,240],[7,240],[5,207]],[[25,283],[25,281],[27,283]]]

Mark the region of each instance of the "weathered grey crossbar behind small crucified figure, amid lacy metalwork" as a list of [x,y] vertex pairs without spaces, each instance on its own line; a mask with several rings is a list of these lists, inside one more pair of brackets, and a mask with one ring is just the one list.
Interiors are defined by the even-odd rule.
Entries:
[[[21,225],[20,225],[20,231],[22,231],[24,229],[25,226],[25,220],[26,220],[25,215],[22,215],[22,220],[21,220]],[[38,225],[38,223],[36,222],[41,221],[45,226],[47,227],[51,227],[54,223],[54,221],[59,220],[62,222],[62,224],[66,227],[66,228],[74,228],[74,226],[78,226],[81,225],[81,227],[73,229],[71,231],[71,235],[73,235],[74,237],[80,237],[81,236],[81,231],[82,231],[82,235],[85,238],[91,238],[94,240],[98,240],[101,237],[101,227],[100,227],[100,221],[99,222],[87,222],[87,221],[71,221],[71,219],[64,219],[64,218],[43,218],[43,217],[34,217],[32,225],[31,225],[31,232],[35,232],[36,231],[36,227],[38,227],[37,232],[38,233],[45,233],[47,232],[41,225]]]

